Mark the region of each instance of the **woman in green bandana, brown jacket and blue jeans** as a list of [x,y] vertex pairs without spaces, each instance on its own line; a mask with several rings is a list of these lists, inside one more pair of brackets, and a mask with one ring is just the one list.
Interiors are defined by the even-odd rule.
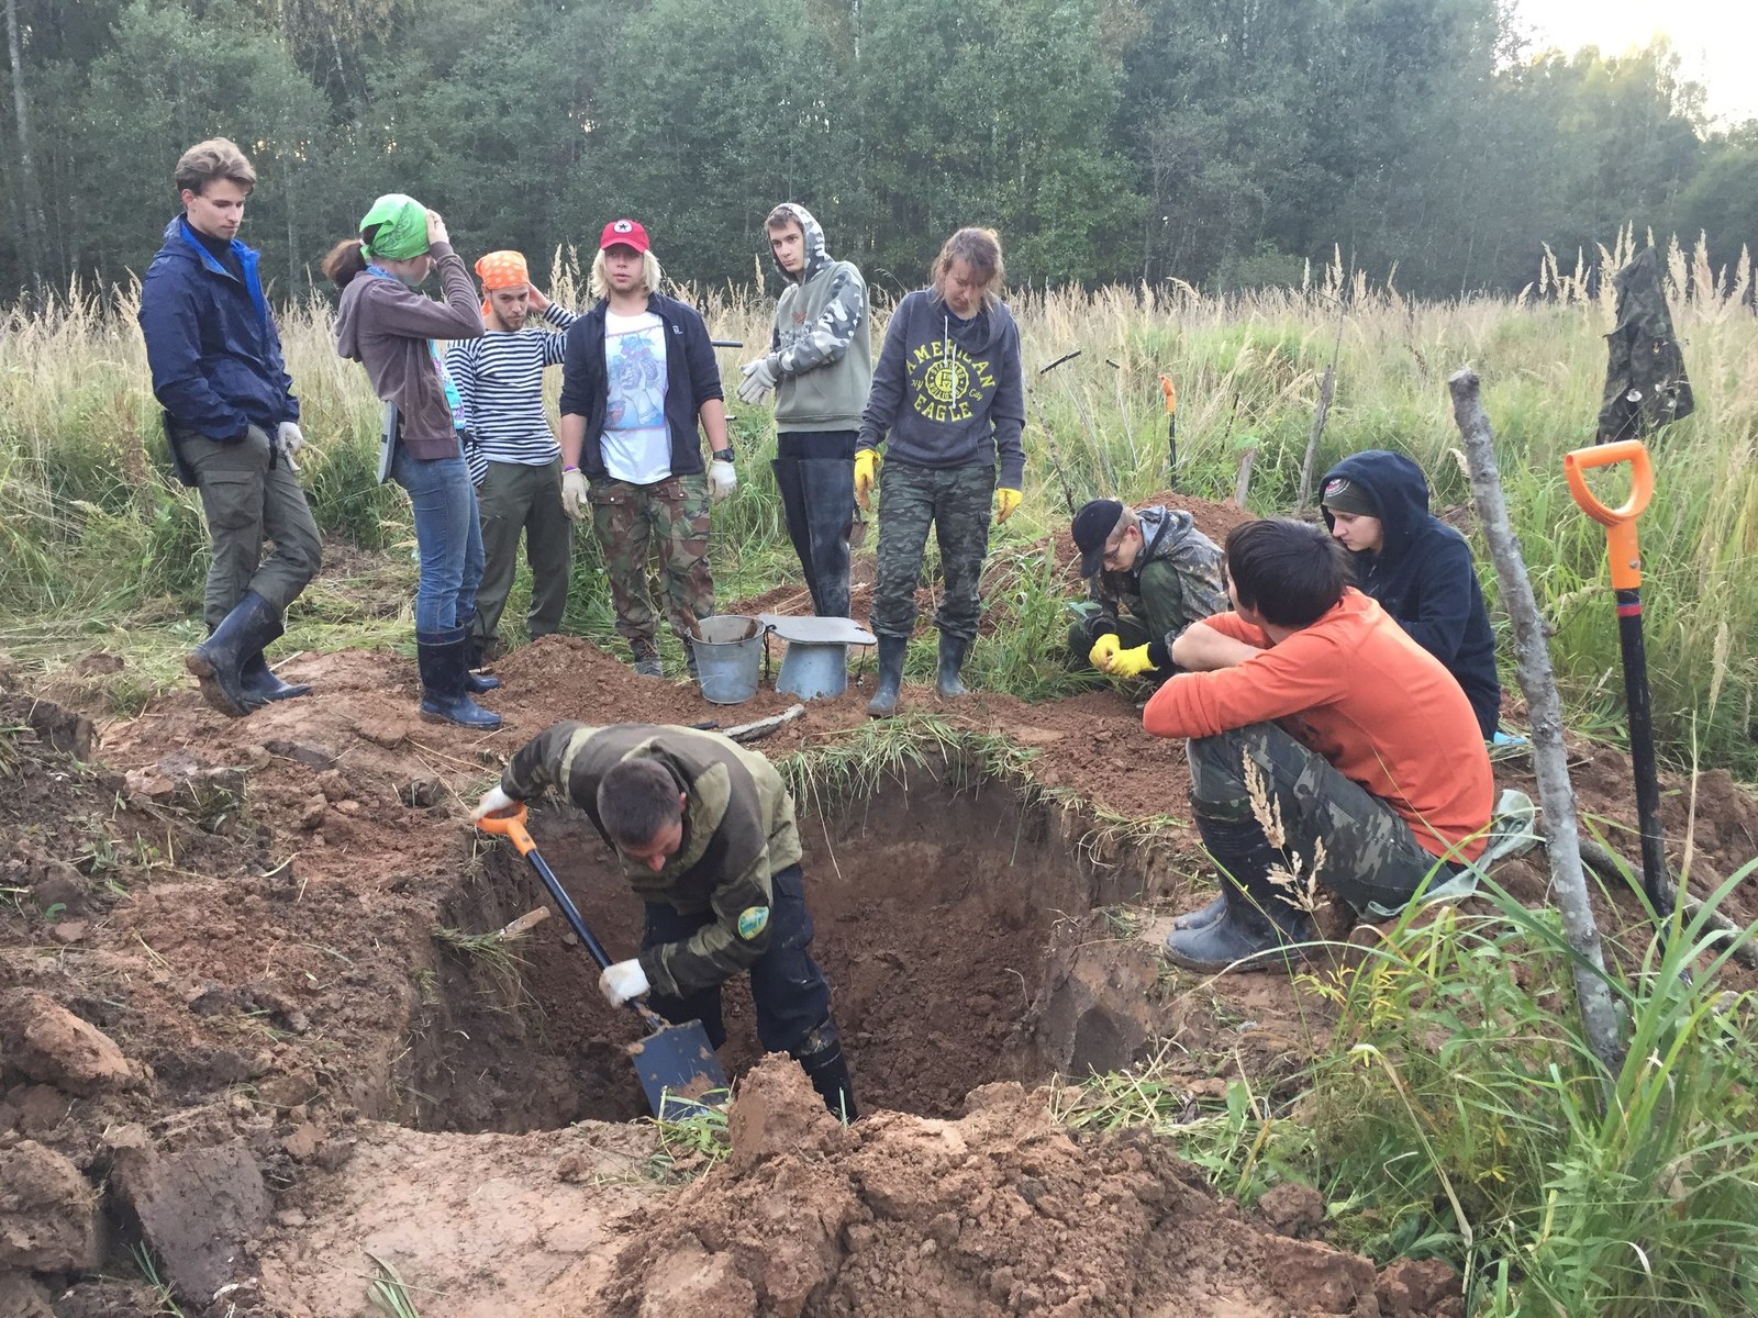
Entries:
[[[415,292],[434,269],[443,302]],[[373,202],[360,220],[360,237],[336,244],[323,258],[323,274],[341,288],[336,351],[360,362],[378,397],[397,408],[390,478],[415,508],[422,717],[499,728],[501,715],[471,699],[499,682],[471,671],[482,520],[464,464],[468,436],[457,390],[440,355],[445,339],[482,337],[476,286],[452,251],[445,221],[401,193]]]

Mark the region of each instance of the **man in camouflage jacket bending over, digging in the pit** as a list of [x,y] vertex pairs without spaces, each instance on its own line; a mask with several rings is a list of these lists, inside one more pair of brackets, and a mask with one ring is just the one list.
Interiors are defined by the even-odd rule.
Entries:
[[585,810],[647,905],[640,956],[598,979],[610,1005],[645,995],[672,1023],[701,1021],[719,1047],[721,984],[749,972],[758,1040],[795,1058],[825,1105],[853,1121],[830,982],[810,954],[793,796],[775,766],[691,728],[557,722],[513,756],[471,819],[550,787]]

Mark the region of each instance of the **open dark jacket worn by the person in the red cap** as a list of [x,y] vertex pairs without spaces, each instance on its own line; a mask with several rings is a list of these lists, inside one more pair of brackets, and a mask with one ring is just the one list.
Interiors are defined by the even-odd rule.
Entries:
[[[580,445],[580,471],[587,480],[605,480],[605,409],[610,381],[605,378],[605,315],[610,302],[599,302],[568,327],[568,346],[561,364],[561,413],[585,416],[585,443]],[[672,474],[694,476],[703,471],[701,436],[696,431],[701,404],[723,399],[721,367],[714,360],[708,327],[694,308],[675,297],[650,293],[647,309],[665,327],[665,420],[672,434]]]

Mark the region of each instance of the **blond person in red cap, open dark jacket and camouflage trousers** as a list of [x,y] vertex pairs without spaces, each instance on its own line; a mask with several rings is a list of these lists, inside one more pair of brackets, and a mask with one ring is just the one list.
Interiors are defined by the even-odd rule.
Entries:
[[[684,645],[714,613],[708,503],[738,485],[726,439],[721,367],[701,316],[659,292],[659,260],[635,220],[612,220],[592,262],[598,302],[568,330],[561,376],[563,506],[592,508],[617,634],[635,671],[665,677],[647,564],[665,569],[672,631]],[[701,431],[712,460],[701,459]]]

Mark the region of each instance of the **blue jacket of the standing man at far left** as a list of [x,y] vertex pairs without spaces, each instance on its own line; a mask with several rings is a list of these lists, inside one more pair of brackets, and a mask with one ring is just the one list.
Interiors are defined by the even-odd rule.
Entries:
[[[257,253],[237,239],[244,279],[227,272],[179,214],[141,283],[141,332],[153,367],[153,397],[171,427],[229,445],[257,425],[274,438],[299,420],[281,336],[262,295]],[[172,441],[174,443],[174,441]]]

